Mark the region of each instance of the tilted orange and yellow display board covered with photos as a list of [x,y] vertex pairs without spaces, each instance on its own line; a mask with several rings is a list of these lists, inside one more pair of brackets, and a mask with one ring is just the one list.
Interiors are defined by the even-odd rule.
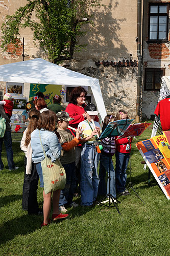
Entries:
[[136,143],[166,198],[170,199],[170,131]]

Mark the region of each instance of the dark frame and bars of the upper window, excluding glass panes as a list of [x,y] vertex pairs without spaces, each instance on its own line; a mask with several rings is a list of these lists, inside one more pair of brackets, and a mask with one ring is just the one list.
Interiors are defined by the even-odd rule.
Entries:
[[[151,13],[151,6],[167,6],[167,13]],[[165,15],[166,14],[166,15]],[[148,42],[167,42],[168,41],[168,23],[169,23],[169,4],[168,3],[150,3],[149,4],[149,17],[148,17]],[[157,39],[150,39],[150,17],[151,16],[167,16],[166,20],[166,39],[158,39],[159,37],[159,18],[158,18],[158,28],[157,28]]]

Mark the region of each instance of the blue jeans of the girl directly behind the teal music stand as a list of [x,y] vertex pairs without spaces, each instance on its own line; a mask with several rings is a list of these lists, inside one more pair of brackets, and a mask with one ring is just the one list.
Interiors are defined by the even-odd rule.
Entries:
[[109,160],[110,160],[110,194],[116,198],[116,187],[115,187],[115,172],[113,167],[112,158],[101,153],[100,167],[99,167],[99,189],[98,195],[109,194],[109,179],[107,179],[107,193],[106,193],[106,172],[109,175]]

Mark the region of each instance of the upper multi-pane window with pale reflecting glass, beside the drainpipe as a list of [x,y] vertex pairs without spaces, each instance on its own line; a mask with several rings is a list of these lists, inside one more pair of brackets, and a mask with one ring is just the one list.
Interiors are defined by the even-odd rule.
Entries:
[[168,7],[167,4],[150,4],[149,40],[167,40]]

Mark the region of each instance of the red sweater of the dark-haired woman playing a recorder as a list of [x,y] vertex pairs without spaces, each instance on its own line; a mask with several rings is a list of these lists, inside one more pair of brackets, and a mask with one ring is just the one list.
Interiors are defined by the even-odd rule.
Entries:
[[[74,127],[77,129],[78,124],[82,121],[84,121],[84,117],[83,117],[83,113],[85,112],[84,108],[72,103],[69,103],[67,105],[67,108],[65,110],[70,117],[74,118],[75,120],[71,120],[69,121],[69,125],[71,127]],[[98,122],[99,121],[99,117],[95,116],[94,121]]]

